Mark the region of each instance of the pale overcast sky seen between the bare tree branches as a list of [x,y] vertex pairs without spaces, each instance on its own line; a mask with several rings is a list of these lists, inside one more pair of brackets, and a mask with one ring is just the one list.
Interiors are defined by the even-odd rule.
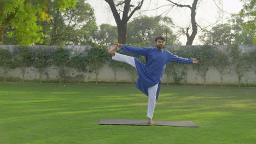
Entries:
[[[131,0],[134,5],[136,5],[138,1],[141,0]],[[219,8],[223,7],[224,12],[218,9],[217,5],[214,3],[213,0],[199,0],[196,9],[196,21],[201,27],[206,27],[208,25],[216,23],[217,20],[219,23],[222,23],[222,20],[223,22],[226,22],[226,19],[230,16],[230,14],[238,13],[242,8],[242,3],[240,2],[240,0],[223,0],[222,5],[219,4],[219,1],[221,0],[215,0]],[[95,10],[97,25],[101,25],[102,23],[108,23],[110,25],[116,26],[112,11],[110,10],[108,3],[106,3],[104,0],[87,0],[87,2]],[[173,0],[173,2],[191,5],[193,3],[193,0]],[[190,9],[174,7],[171,11],[166,13],[165,11],[167,11],[170,6],[161,7],[162,5],[166,4],[171,3],[166,0],[152,0],[151,3],[150,0],[144,0],[141,10],[137,11],[132,16],[132,18],[142,15],[157,16],[162,14],[162,16],[171,17],[175,26],[188,27],[190,25]],[[161,8],[156,9],[158,7]],[[221,16],[222,14],[223,19],[219,19],[221,18],[219,16]],[[186,42],[185,36],[181,37],[180,40],[184,45]],[[193,45],[196,44],[200,44],[198,40],[195,40],[193,43]]]

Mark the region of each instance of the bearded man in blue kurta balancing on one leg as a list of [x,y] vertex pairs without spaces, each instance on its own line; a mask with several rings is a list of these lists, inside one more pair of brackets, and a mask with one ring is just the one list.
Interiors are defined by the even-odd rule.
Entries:
[[[136,87],[148,95],[148,121],[149,124],[154,125],[153,113],[155,109],[155,103],[158,99],[159,90],[161,87],[161,79],[164,74],[166,64],[168,62],[178,63],[197,63],[196,58],[182,58],[173,55],[171,52],[163,50],[165,39],[163,37],[157,37],[155,39],[157,48],[139,48],[133,46],[126,46],[123,44],[114,44],[108,53],[112,55],[112,59],[119,62],[125,62],[132,65],[138,71],[138,79]],[[135,57],[121,55],[115,52],[119,47],[125,52],[129,52],[133,55],[141,55],[146,58],[146,64],[142,63]]]

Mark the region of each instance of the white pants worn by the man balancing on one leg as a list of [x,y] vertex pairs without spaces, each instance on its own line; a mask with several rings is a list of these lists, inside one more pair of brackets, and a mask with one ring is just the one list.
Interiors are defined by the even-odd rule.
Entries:
[[[132,67],[136,68],[134,57],[121,55],[120,53],[115,52],[115,56],[112,56],[112,59],[119,62],[125,62],[130,64]],[[153,118],[153,113],[155,110],[156,103],[156,92],[158,91],[158,84],[153,87],[148,88],[148,114],[149,118]]]

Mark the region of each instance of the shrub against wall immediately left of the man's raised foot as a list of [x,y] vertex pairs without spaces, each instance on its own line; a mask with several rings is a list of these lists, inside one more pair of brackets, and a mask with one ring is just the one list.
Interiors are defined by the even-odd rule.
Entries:
[[92,44],[92,48],[88,51],[87,55],[88,61],[88,69],[89,72],[93,72],[96,74],[96,84],[98,83],[98,74],[100,73],[100,68],[103,67],[108,59],[109,55],[107,51],[104,49],[104,45],[102,44]]

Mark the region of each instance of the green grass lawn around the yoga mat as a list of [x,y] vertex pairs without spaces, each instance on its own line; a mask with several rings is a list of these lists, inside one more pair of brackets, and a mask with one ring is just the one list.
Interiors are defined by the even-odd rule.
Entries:
[[0,83],[0,143],[256,143],[256,89],[162,86],[154,119],[199,128],[98,125],[147,119],[132,85]]

